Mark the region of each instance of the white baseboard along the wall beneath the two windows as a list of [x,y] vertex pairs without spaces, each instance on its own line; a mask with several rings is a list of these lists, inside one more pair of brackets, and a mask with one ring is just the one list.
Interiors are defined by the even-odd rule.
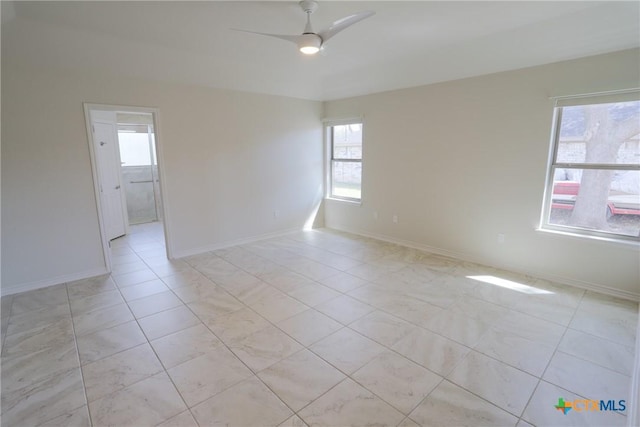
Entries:
[[490,261],[486,259],[481,259],[480,257],[474,257],[474,256],[470,256],[468,254],[464,254],[460,252],[454,252],[446,249],[436,248],[433,246],[424,245],[422,243],[413,242],[410,240],[396,239],[394,237],[385,236],[383,234],[369,233],[366,231],[352,230],[352,229],[335,227],[335,226],[327,227],[327,228],[343,231],[345,233],[357,234],[363,237],[370,237],[372,239],[382,240],[384,242],[395,243],[397,245],[418,249],[418,250],[433,253],[436,255],[442,255],[450,258],[459,259],[461,261],[474,262],[477,264],[486,265],[488,267],[501,268],[504,270],[513,271],[514,273],[526,274],[528,276],[537,277],[539,279],[562,283],[562,284],[573,286],[576,288],[586,289],[586,290],[598,292],[601,294],[611,295],[611,296],[615,296],[615,297],[626,299],[626,300],[631,300],[636,302],[640,301],[639,293],[623,291],[620,289],[614,289],[600,283],[591,283],[591,282],[586,282],[582,280],[571,279],[568,277],[556,276],[553,274],[540,273],[539,271],[525,270],[525,269],[522,269],[521,267],[508,265],[508,264],[496,265],[495,263],[491,263]]

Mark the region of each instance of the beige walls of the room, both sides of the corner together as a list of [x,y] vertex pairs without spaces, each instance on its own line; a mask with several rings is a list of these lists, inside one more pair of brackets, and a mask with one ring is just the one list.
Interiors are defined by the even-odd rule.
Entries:
[[[328,118],[364,115],[364,201],[320,212],[331,227],[638,298],[637,247],[536,231],[549,96],[638,86],[637,64],[634,50],[327,102]],[[320,201],[321,103],[3,58],[3,293],[104,271],[83,102],[159,108],[176,256],[300,228]]]

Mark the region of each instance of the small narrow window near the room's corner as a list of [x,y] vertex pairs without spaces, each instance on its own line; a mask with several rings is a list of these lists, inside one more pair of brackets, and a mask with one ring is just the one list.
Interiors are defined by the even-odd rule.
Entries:
[[327,127],[330,150],[328,196],[360,201],[362,198],[362,123]]

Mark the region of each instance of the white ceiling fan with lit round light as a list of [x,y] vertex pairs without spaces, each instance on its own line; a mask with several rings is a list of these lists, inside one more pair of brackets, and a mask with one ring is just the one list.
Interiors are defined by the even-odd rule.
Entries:
[[238,30],[245,33],[251,34],[259,34],[261,36],[275,37],[278,39],[286,40],[295,43],[298,45],[298,49],[300,52],[306,55],[313,55],[318,53],[320,49],[329,41],[329,39],[340,31],[345,30],[346,28],[352,26],[353,24],[362,21],[372,15],[375,15],[375,12],[372,11],[364,11],[356,13],[355,15],[350,15],[335,21],[329,28],[325,28],[322,31],[315,32],[311,26],[311,14],[318,9],[318,2],[315,0],[302,0],[300,3],[300,7],[307,14],[307,25],[304,27],[304,31],[302,34],[297,36],[289,36],[284,34],[269,34],[269,33],[259,33],[256,31],[247,31],[247,30]]

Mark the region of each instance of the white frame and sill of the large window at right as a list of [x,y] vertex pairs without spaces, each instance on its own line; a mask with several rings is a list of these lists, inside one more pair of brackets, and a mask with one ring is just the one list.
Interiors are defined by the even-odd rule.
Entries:
[[[567,102],[563,102],[563,101]],[[560,146],[560,130],[562,127],[562,113],[565,107],[594,105],[604,103],[622,103],[630,100],[640,100],[638,89],[623,90],[604,94],[587,94],[570,97],[555,98],[553,109],[553,121],[551,129],[551,144],[549,157],[547,160],[547,174],[545,190],[543,195],[542,211],[540,217],[540,231],[565,234],[575,237],[586,237],[591,239],[605,240],[617,243],[640,245],[640,236],[629,236],[604,230],[588,229],[579,226],[561,225],[550,222],[551,209],[553,205],[553,190],[555,184],[556,170],[558,169],[581,169],[581,170],[613,170],[613,171],[640,171],[640,164],[611,164],[611,163],[569,163],[559,162],[558,151]]]

